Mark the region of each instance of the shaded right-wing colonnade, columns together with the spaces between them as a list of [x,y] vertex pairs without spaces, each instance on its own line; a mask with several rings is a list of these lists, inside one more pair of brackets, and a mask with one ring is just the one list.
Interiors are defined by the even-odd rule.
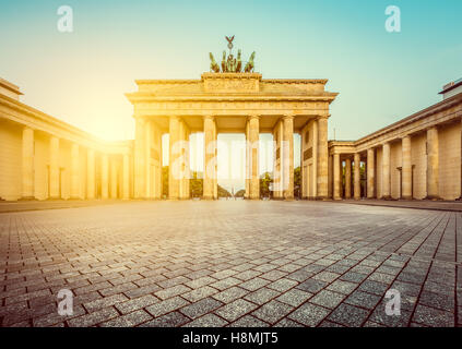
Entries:
[[[422,136],[423,134],[418,134]],[[341,200],[362,198],[403,198],[412,200],[415,197],[413,188],[414,176],[413,168],[413,134],[405,134],[399,139],[383,142],[355,153],[345,153],[340,148],[333,151],[331,158],[333,160],[333,198]],[[425,130],[425,153],[424,159],[415,156],[414,161],[424,164],[426,179],[426,196],[425,198],[437,200],[439,194],[439,131],[438,127],[430,127]],[[394,154],[396,158],[392,167],[391,147],[395,145],[400,149]],[[380,152],[380,165],[378,164],[377,154]],[[353,178],[352,178],[352,160],[353,160]],[[360,163],[365,166],[365,191],[362,193],[360,184]],[[344,167],[344,168],[343,168]],[[392,173],[399,171],[399,181],[392,186]],[[344,177],[343,177],[344,173]],[[380,181],[378,181],[380,177]],[[344,185],[342,179],[344,178]],[[351,191],[353,180],[353,193]],[[379,183],[378,183],[379,182]],[[378,188],[380,185],[380,188]],[[396,185],[399,186],[396,190]],[[343,190],[342,190],[343,189]],[[398,194],[392,195],[392,191]],[[342,195],[343,192],[343,195]]]

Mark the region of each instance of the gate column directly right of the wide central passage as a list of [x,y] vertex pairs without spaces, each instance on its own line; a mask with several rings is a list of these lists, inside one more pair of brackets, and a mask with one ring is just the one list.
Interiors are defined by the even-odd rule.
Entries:
[[249,117],[249,141],[250,141],[250,200],[260,198],[260,176],[259,176],[259,139],[260,118]]

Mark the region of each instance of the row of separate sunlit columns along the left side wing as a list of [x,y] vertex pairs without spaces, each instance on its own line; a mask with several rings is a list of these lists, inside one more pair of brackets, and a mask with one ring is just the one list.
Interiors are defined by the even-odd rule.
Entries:
[[[93,200],[96,197],[96,159],[95,151],[87,149],[86,158],[86,173],[82,173],[80,166],[81,147],[79,144],[71,144],[70,152],[70,198]],[[129,180],[129,154],[123,156],[123,173],[122,173],[122,193],[121,197],[128,200],[130,196],[130,180]],[[109,156],[102,154],[102,198],[117,198],[118,195],[118,168],[117,160],[110,160],[110,182],[109,182]],[[45,165],[45,164],[44,164]],[[22,134],[22,200],[35,200],[35,137],[34,130],[25,127]],[[60,140],[51,135],[49,140],[49,200],[59,200],[61,196],[61,167],[60,167]],[[84,193],[81,193],[81,177],[86,176],[86,188]],[[109,193],[110,189],[110,193]],[[109,195],[110,194],[110,195]]]

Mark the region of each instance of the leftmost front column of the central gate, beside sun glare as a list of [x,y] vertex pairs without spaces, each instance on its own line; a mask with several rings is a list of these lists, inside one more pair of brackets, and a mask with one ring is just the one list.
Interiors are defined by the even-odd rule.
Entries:
[[134,140],[134,197],[145,196],[145,122],[142,118],[135,119]]

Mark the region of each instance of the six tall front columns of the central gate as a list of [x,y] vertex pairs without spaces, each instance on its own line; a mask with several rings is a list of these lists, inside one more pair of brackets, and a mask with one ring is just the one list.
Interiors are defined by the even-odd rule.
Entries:
[[[146,198],[150,191],[150,178],[147,154],[151,148],[151,128],[155,128],[152,121],[137,118],[135,130],[135,197]],[[189,194],[189,134],[188,125],[182,118],[171,116],[168,119],[169,127],[169,173],[168,197],[170,200],[183,200]],[[318,197],[328,197],[328,119],[320,118],[317,121],[318,166],[317,166],[317,191]],[[217,125],[216,117],[208,115],[203,117],[204,132],[204,173],[203,197],[214,200],[218,197],[217,191]],[[276,147],[280,147],[280,165],[274,168],[274,194],[275,197],[285,200],[294,198],[294,117],[284,116],[276,123],[273,134],[277,133]],[[259,177],[259,135],[260,117],[251,115],[246,120],[246,197],[260,198]],[[162,149],[158,146],[158,152]],[[161,178],[157,179],[161,181]]]

